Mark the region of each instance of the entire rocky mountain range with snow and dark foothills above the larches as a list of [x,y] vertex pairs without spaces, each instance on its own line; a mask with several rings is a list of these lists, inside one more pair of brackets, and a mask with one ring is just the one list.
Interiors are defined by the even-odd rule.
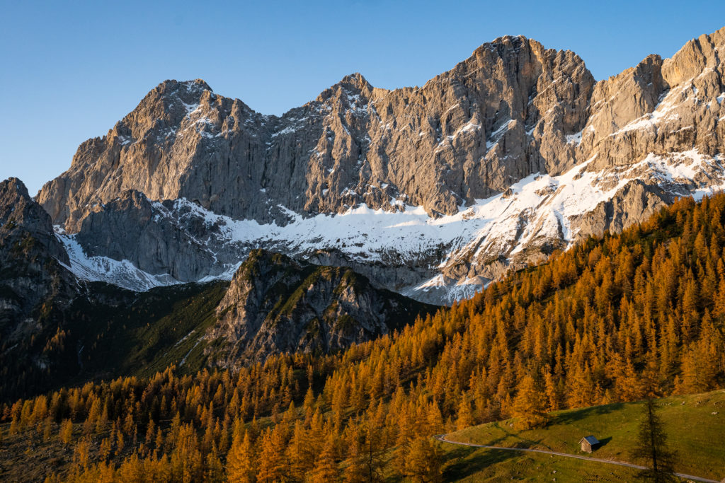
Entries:
[[349,75],[281,117],[167,80],[35,198],[0,184],[3,396],[343,350],[720,190],[724,43],[595,82],[502,37],[423,87]]

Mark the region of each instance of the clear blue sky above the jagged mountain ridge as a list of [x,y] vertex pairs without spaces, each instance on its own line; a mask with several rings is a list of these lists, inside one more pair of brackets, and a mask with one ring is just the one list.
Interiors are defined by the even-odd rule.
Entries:
[[500,35],[573,50],[600,80],[723,26],[721,0],[0,0],[0,180],[36,193],[165,79],[281,114],[352,72],[423,85]]

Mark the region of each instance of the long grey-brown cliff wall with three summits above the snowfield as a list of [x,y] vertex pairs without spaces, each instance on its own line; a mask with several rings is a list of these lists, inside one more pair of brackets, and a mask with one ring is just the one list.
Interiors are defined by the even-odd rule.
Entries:
[[593,88],[579,56],[522,37],[484,44],[422,88],[386,91],[350,75],[282,117],[202,80],[169,80],[83,143],[38,201],[68,232],[125,190],[262,222],[284,219],[278,205],[454,214],[532,172],[572,165],[565,136],[584,127]]

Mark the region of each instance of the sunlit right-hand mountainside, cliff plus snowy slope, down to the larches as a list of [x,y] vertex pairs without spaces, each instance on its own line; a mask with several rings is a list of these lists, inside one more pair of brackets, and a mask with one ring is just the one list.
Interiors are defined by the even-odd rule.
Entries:
[[597,83],[586,125],[567,136],[576,168],[566,173],[572,165],[561,162],[504,193],[497,214],[487,214],[497,222],[455,247],[442,280],[425,290],[462,280],[480,287],[589,235],[642,222],[678,196],[723,189],[723,49],[725,28]]

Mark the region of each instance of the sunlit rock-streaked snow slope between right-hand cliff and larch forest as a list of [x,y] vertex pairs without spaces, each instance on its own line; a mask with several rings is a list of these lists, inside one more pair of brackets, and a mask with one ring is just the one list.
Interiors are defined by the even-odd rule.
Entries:
[[[441,274],[415,287],[446,287],[449,301],[471,295],[497,277],[498,266],[524,266],[589,235],[640,222],[676,197],[700,200],[725,188],[725,157],[691,150],[649,154],[635,164],[589,170],[589,159],[560,176],[531,175],[500,196],[481,200],[461,216],[475,225],[463,246],[452,247]],[[636,206],[633,206],[636,205]],[[608,212],[601,217],[597,211]],[[462,270],[467,272],[462,276]],[[414,292],[413,292],[414,293]]]

